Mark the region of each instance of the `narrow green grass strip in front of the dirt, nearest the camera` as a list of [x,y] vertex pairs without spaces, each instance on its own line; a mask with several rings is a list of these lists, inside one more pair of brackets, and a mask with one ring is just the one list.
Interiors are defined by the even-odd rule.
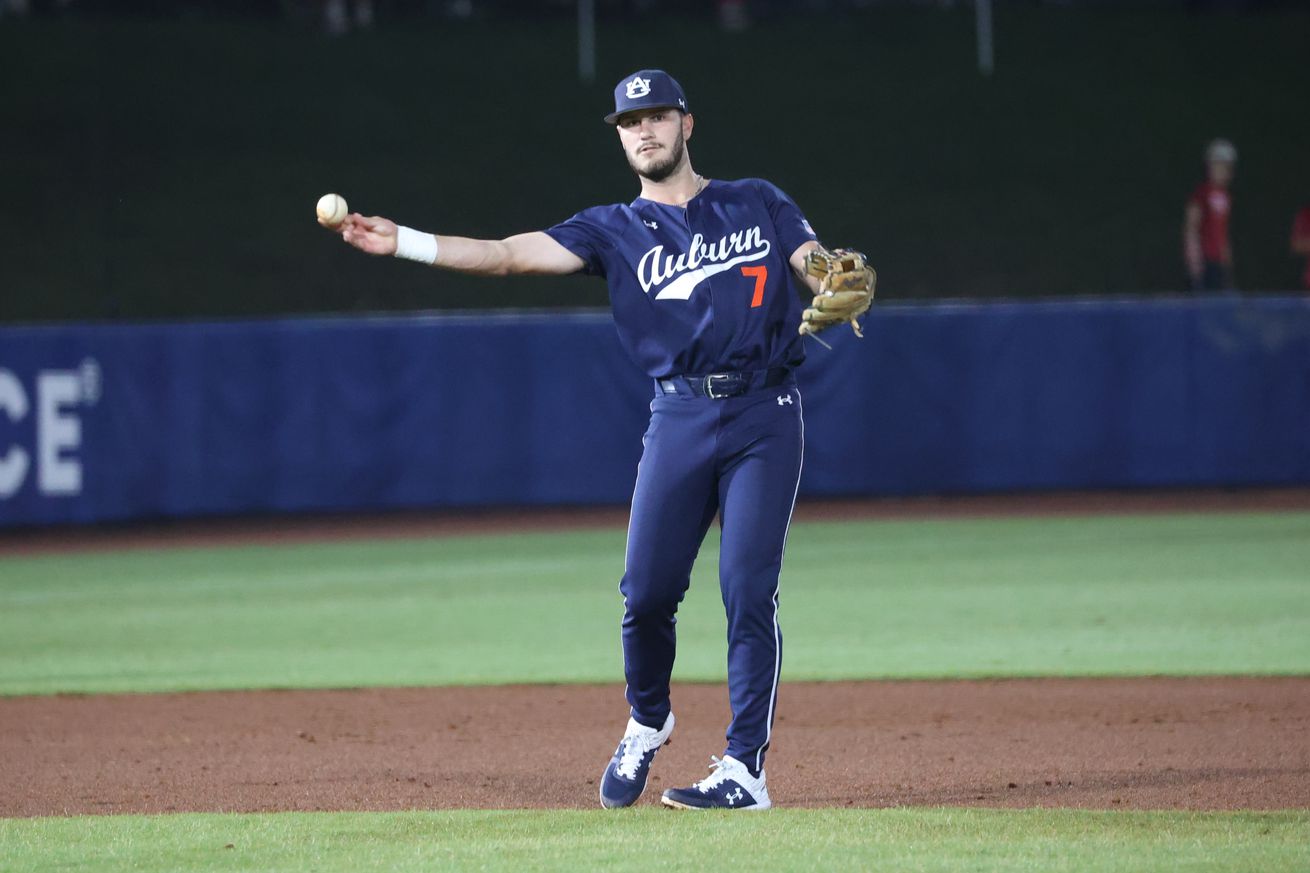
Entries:
[[[457,811],[0,821],[0,870],[1279,870],[1310,813]],[[231,845],[231,848],[228,848]]]

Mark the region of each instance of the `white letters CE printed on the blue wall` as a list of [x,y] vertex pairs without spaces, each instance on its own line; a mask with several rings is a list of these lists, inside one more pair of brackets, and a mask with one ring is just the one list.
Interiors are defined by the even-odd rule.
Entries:
[[[35,446],[0,442],[0,499],[13,497],[35,468],[37,490],[47,497],[81,493],[81,417],[77,408],[100,402],[100,364],[88,358],[77,370],[41,370],[31,392],[12,371],[0,367],[0,426],[18,425],[33,412],[35,397]],[[10,429],[12,430],[12,429]],[[0,430],[3,435],[4,430]],[[0,436],[3,438],[3,436]]]

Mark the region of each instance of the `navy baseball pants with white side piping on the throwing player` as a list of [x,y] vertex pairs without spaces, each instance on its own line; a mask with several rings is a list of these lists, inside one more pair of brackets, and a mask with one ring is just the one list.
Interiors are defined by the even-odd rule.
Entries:
[[728,625],[727,754],[758,773],[773,730],[782,632],[778,573],[800,481],[804,425],[789,379],[736,397],[660,395],[637,468],[624,595],[624,672],[638,722],[669,713],[676,612],[692,562],[722,518],[719,589]]

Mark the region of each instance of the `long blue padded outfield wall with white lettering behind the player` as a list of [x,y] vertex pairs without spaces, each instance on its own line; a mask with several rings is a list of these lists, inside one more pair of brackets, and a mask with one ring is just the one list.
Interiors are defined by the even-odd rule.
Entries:
[[[802,495],[1310,484],[1310,298],[883,305],[800,370]],[[0,328],[0,526],[622,503],[604,312]]]

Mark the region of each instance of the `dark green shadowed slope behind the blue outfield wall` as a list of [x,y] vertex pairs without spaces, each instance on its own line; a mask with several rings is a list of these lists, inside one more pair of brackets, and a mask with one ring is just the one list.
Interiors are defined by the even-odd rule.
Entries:
[[1172,292],[1213,136],[1241,149],[1243,290],[1296,284],[1310,202],[1310,14],[1002,5],[603,22],[576,77],[567,14],[383,21],[0,22],[0,321],[603,305],[595,279],[438,275],[348,250],[325,191],[414,227],[504,236],[637,191],[600,122],[662,66],[711,177],[765,176],[880,296]]

